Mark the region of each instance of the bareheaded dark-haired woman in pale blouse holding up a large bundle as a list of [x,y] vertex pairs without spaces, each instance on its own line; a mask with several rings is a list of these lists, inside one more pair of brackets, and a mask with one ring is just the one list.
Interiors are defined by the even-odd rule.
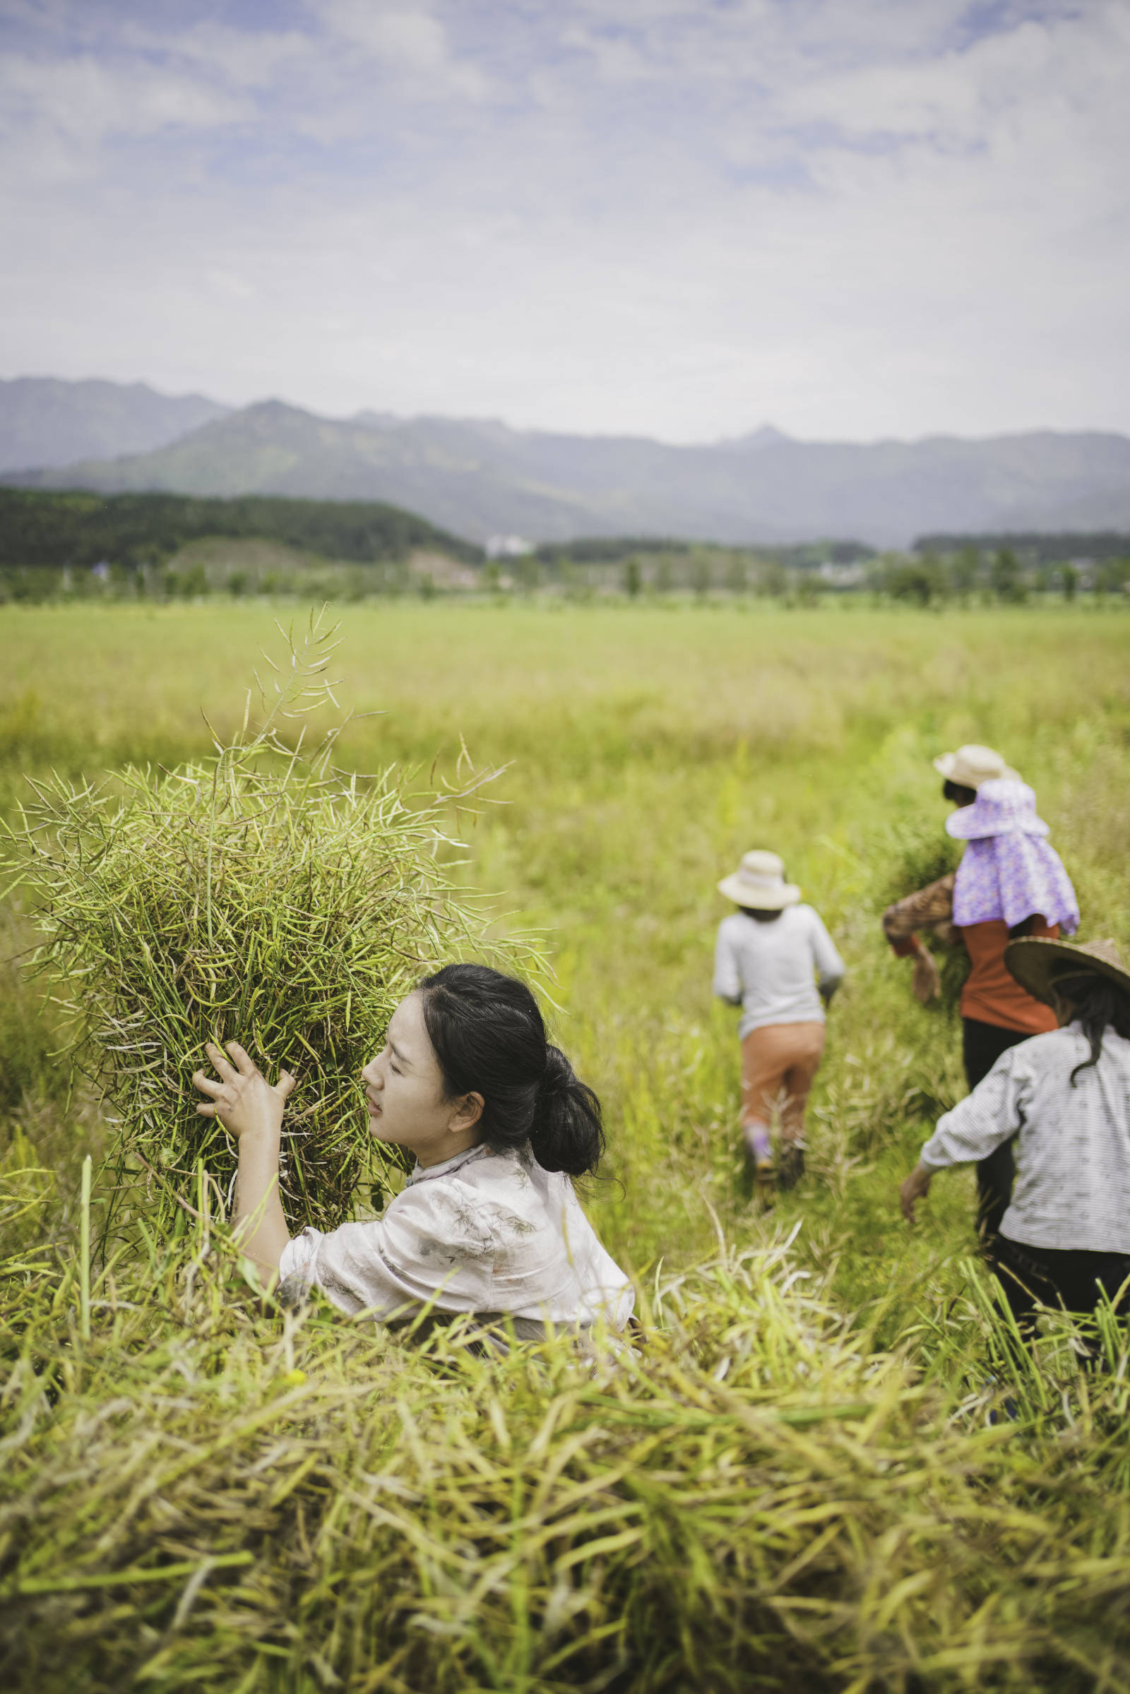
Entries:
[[600,1245],[573,1193],[605,1147],[600,1101],[546,1040],[530,989],[479,964],[424,977],[391,1016],[363,1071],[371,1133],[415,1154],[385,1215],[291,1238],[278,1194],[283,1106],[295,1079],[271,1086],[235,1042],[208,1045],[198,1071],[239,1140],[235,1233],[268,1276],[317,1286],[342,1311],[378,1320],[422,1313],[507,1316],[515,1335],[546,1325],[622,1330],[632,1286]]

